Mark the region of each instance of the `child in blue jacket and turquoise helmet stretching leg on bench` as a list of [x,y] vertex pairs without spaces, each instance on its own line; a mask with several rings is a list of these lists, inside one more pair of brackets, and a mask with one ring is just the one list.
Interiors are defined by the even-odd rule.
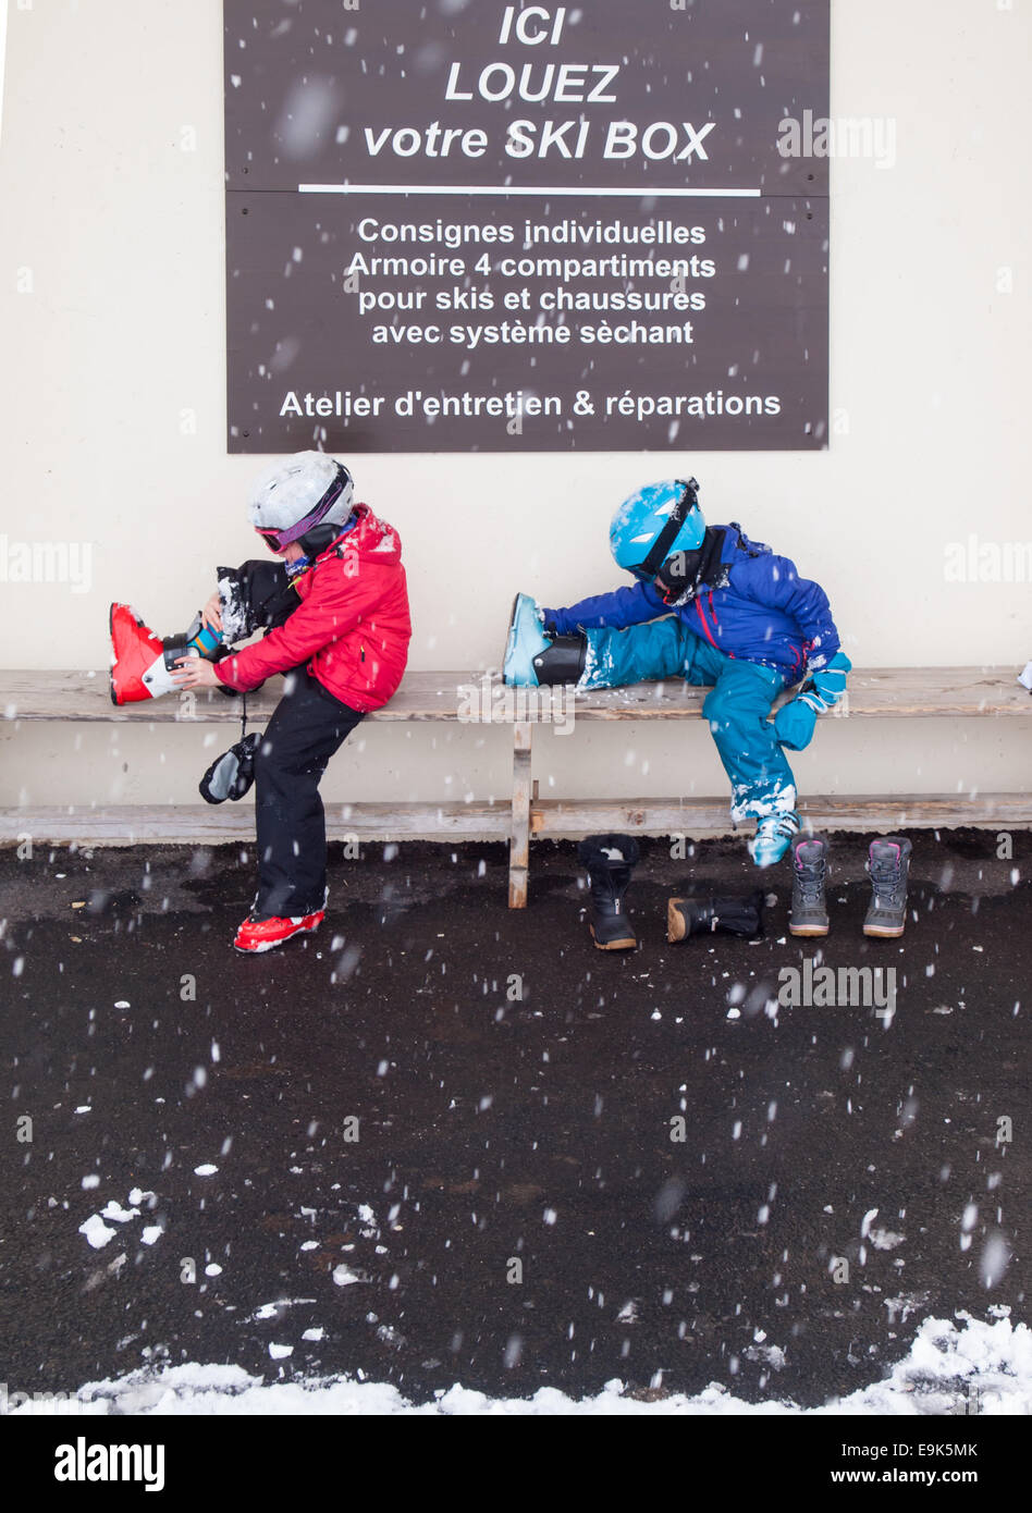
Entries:
[[[713,684],[702,705],[731,779],[731,819],[755,819],[749,852],[779,861],[799,829],[785,747],[802,750],[817,714],[846,690],[844,655],[825,590],[738,525],[707,527],[698,483],[648,484],[613,516],[610,548],[629,589],[542,610],[516,599],[504,678],[611,688],[645,679]],[[773,722],[782,688],[802,682]]]

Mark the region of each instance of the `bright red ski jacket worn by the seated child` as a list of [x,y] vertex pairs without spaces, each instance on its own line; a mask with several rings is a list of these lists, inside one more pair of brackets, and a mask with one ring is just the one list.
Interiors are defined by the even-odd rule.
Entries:
[[307,670],[353,710],[378,710],[401,682],[412,619],[393,527],[357,504],[359,520],[294,581],[297,610],[265,638],[215,663],[219,682],[248,693],[272,673]]

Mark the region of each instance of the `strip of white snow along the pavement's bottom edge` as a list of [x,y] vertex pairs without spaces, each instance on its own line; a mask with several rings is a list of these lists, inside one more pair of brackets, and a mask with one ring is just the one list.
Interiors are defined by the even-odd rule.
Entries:
[[91,1381],[68,1403],[27,1403],[12,1413],[415,1413],[415,1415],[655,1415],[655,1413],[751,1413],[751,1415],[1027,1415],[1032,1413],[1032,1330],[1011,1324],[1008,1309],[990,1309],[993,1321],[959,1312],[958,1324],[929,1318],[917,1330],[905,1360],[888,1378],[861,1387],[819,1409],[794,1403],[744,1403],[722,1386],[711,1384],[689,1398],[675,1393],[654,1403],[622,1396],[620,1381],[607,1383],[595,1398],[575,1401],[555,1387],[542,1387],[533,1398],[489,1398],[454,1386],[419,1407],[396,1387],[350,1377],[295,1377],[263,1384],[241,1366],[169,1366],[141,1369],[113,1381]]

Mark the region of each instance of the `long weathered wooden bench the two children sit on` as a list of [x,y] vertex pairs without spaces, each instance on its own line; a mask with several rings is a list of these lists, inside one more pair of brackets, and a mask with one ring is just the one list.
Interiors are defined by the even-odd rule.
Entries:
[[[278,678],[248,694],[248,720],[268,719],[281,693]],[[702,838],[732,835],[726,794],[711,799],[539,799],[533,779],[536,725],[611,720],[699,719],[705,688],[678,681],[574,693],[572,688],[502,688],[483,672],[412,672],[372,722],[510,725],[513,790],[504,802],[354,803],[327,806],[330,838],[483,840],[510,843],[508,903],[527,906],[533,835],[577,837],[592,831]],[[787,696],[782,696],[782,699]],[[781,702],[781,701],[779,701]],[[168,694],[148,704],[112,705],[103,672],[0,672],[0,710],[8,722],[142,722],[156,725],[239,723],[239,699],[218,690]],[[823,719],[1032,719],[1032,696],[1011,667],[858,669],[844,707]],[[227,731],[227,744],[233,732]],[[198,773],[200,776],[200,773]],[[897,794],[893,797],[816,796],[800,800],[814,829],[863,831],[902,826],[1032,826],[1032,794]],[[740,828],[738,828],[740,829]],[[251,805],[109,805],[0,809],[0,844],[32,834],[41,843],[132,846],[141,843],[218,844],[254,835]]]

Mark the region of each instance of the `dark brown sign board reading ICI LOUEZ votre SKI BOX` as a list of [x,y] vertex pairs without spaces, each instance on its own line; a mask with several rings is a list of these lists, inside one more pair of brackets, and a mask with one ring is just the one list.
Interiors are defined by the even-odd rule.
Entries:
[[828,445],[828,0],[224,18],[232,452]]

